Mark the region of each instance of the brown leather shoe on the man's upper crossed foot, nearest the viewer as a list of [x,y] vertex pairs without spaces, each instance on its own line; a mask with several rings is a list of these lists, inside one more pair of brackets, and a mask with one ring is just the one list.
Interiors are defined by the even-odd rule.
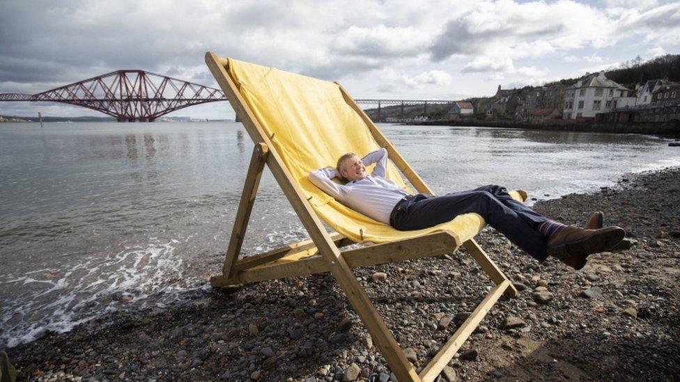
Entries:
[[591,253],[604,252],[624,239],[626,231],[619,227],[584,230],[568,225],[548,237],[548,255],[582,269]]

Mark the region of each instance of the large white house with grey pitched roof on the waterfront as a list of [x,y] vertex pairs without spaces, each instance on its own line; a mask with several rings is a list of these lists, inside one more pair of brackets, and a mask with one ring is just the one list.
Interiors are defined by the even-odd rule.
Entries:
[[562,118],[594,118],[616,109],[620,97],[628,97],[626,87],[605,77],[604,72],[592,74],[566,88]]

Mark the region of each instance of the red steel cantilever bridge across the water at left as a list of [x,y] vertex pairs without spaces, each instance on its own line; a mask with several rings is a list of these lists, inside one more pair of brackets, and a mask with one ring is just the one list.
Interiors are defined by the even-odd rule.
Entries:
[[0,94],[0,101],[61,102],[101,111],[119,122],[153,122],[171,111],[226,97],[219,89],[162,74],[116,70],[38,94]]

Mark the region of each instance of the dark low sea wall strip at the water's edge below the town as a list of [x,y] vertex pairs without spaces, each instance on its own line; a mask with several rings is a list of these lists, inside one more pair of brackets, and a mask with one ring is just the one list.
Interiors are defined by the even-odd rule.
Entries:
[[629,123],[564,123],[560,125],[536,125],[504,120],[435,120],[427,122],[408,122],[415,126],[459,126],[459,127],[497,127],[505,129],[545,130],[557,132],[589,132],[608,134],[644,134],[663,138],[680,138],[680,123],[663,122],[658,124]]

